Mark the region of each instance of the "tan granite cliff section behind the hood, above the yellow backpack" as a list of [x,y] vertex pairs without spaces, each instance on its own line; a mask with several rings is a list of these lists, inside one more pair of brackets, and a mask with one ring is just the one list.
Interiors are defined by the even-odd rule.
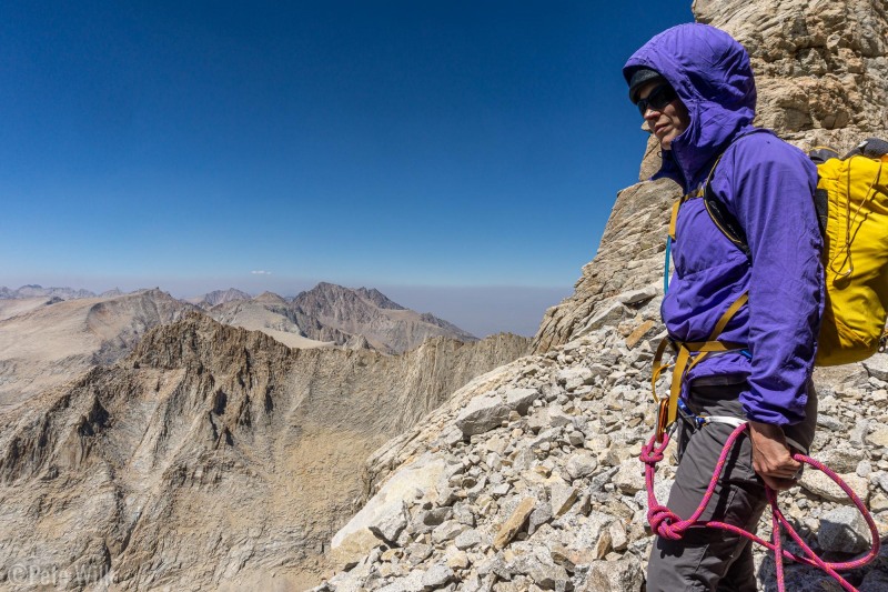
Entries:
[[696,0],[702,22],[749,51],[758,119],[807,150],[849,150],[888,122],[888,7],[881,0]]

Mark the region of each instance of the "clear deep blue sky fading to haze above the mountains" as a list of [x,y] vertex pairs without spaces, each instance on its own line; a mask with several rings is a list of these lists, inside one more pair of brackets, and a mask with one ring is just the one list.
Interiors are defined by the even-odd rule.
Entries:
[[620,67],[689,4],[4,2],[0,285],[323,280],[532,334],[637,179]]

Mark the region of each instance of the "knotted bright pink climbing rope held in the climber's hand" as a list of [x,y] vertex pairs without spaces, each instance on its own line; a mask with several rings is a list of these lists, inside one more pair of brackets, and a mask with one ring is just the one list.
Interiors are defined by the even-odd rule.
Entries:
[[[801,540],[801,536],[793,529],[789,524],[789,521],[784,516],[783,512],[777,505],[777,493],[768,488],[765,486],[765,494],[767,495],[768,502],[771,506],[771,523],[773,523],[773,540],[774,542],[765,541],[759,536],[755,535],[751,532],[747,532],[746,530],[735,526],[734,524],[727,524],[725,522],[718,522],[715,520],[710,521],[700,521],[699,518],[703,514],[704,510],[709,503],[709,500],[713,498],[713,492],[715,491],[716,483],[718,482],[718,478],[722,474],[722,470],[725,466],[725,462],[727,461],[728,453],[730,452],[734,442],[737,438],[743,434],[746,430],[747,424],[744,423],[739,425],[737,429],[731,432],[730,437],[728,438],[727,442],[725,442],[725,448],[722,450],[722,455],[718,458],[718,462],[715,465],[715,471],[713,473],[713,479],[709,481],[709,486],[706,489],[706,493],[700,501],[699,506],[697,510],[694,511],[690,518],[687,520],[682,520],[677,514],[672,512],[665,505],[660,505],[657,502],[657,498],[654,494],[654,473],[656,471],[656,464],[663,460],[664,451],[666,446],[669,444],[669,434],[663,435],[663,442],[657,443],[656,434],[650,438],[647,444],[642,448],[642,462],[645,463],[645,481],[647,483],[647,521],[650,523],[652,530],[657,533],[659,536],[664,536],[666,539],[670,539],[677,541],[682,539],[689,528],[696,526],[707,526],[710,529],[720,529],[728,532],[733,532],[735,534],[739,534],[740,536],[745,536],[750,541],[754,541],[760,545],[764,545],[771,551],[774,551],[774,562],[777,568],[777,589],[779,592],[786,591],[786,583],[784,578],[784,559],[795,561],[797,563],[803,563],[806,565],[819,568],[820,570],[825,571],[829,575],[836,579],[836,581],[847,590],[848,592],[858,592],[858,590],[852,586],[847,580],[845,580],[841,575],[839,575],[839,571],[846,570],[854,570],[857,568],[861,568],[872,561],[876,555],[879,554],[879,531],[876,526],[876,522],[872,520],[872,516],[867,511],[866,505],[864,502],[860,501],[860,498],[845,483],[839,475],[835,472],[829,470],[821,462],[806,456],[804,454],[794,454],[793,458],[805,464],[821,471],[826,474],[829,479],[831,479],[841,490],[850,498],[854,504],[857,506],[857,510],[864,515],[864,519],[869,526],[869,533],[872,539],[872,548],[870,549],[869,553],[862,558],[856,559],[854,561],[845,561],[845,562],[826,562],[820,559],[814,550],[808,546],[805,541]],[[805,555],[800,556],[790,553],[783,549],[780,543],[780,532],[785,530],[786,533],[801,548]]]

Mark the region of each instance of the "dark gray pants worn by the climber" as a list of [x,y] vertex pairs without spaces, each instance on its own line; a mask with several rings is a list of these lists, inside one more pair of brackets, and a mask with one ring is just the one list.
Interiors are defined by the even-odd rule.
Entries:
[[[688,407],[700,415],[743,418],[738,400],[744,384],[709,384],[690,388]],[[808,383],[804,422],[785,430],[806,449],[814,440],[817,394]],[[689,518],[709,485],[718,456],[731,425],[710,423],[696,429],[678,420],[678,470],[668,508]],[[713,499],[700,520],[718,520],[755,532],[767,500],[765,485],[753,470],[753,448],[747,435],[731,450]],[[806,450],[807,451],[807,450]],[[689,529],[679,541],[657,536],[647,566],[647,592],[756,592],[753,549],[748,539],[715,529]]]

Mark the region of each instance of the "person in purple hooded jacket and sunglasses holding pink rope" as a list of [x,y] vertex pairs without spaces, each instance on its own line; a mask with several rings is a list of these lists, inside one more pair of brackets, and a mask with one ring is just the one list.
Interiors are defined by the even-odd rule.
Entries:
[[[810,375],[824,302],[813,201],[817,171],[801,151],[753,127],[749,57],[724,31],[705,24],[672,28],[633,54],[623,73],[662,148],[663,165],[654,178],[673,179],[690,193],[712,173],[713,195],[748,244],[746,253],[733,243],[703,199],[685,201],[662,314],[673,341],[707,341],[727,309],[748,292],[748,302],[718,338],[744,348],[710,353],[693,367],[683,398],[698,415],[748,421],[749,438],[733,451],[702,520],[754,531],[766,506],[764,485],[787,489],[800,469],[787,439],[807,449],[814,437]],[[686,519],[700,503],[734,428],[678,423],[680,461],[667,505]],[[713,529],[690,529],[680,541],[658,538],[647,590],[754,592],[751,548],[746,539]]]

